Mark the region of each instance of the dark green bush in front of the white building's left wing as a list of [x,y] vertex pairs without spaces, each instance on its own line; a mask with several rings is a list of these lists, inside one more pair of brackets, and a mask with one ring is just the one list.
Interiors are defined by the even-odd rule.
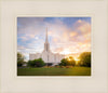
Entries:
[[43,67],[45,63],[42,61],[42,58],[28,61],[28,66],[31,66],[31,67]]

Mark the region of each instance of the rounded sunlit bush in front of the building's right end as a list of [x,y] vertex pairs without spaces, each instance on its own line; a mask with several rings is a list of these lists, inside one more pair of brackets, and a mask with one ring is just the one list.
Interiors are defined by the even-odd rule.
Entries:
[[69,56],[68,58],[63,58],[60,62],[62,62],[59,64],[60,66],[75,66],[76,65],[76,61],[73,59],[72,56]]

